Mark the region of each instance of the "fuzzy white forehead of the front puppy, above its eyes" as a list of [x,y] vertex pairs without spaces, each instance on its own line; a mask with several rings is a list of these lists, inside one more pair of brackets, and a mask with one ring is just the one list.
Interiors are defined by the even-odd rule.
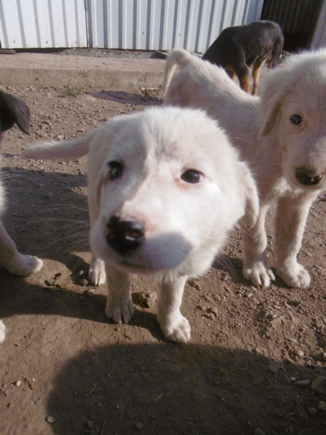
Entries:
[[121,117],[111,132],[107,159],[133,167],[168,162],[171,168],[192,166],[210,173],[213,167],[219,172],[230,169],[238,156],[226,133],[205,112],[166,107]]

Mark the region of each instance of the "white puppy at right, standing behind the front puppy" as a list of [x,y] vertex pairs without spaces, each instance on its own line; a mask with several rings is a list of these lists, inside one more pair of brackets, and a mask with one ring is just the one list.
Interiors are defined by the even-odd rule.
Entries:
[[[175,66],[181,70],[173,75]],[[291,56],[270,71],[261,99],[243,92],[222,68],[174,50],[164,93],[165,105],[206,109],[250,164],[260,212],[251,232],[243,233],[244,277],[262,286],[275,279],[266,259],[264,223],[277,201],[277,273],[289,286],[307,287],[309,273],[296,255],[311,203],[326,187],[326,50]]]

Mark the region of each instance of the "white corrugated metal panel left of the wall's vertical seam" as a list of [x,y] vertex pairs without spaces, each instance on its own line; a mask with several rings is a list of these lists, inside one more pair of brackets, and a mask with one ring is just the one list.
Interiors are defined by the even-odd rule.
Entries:
[[2,48],[87,46],[84,0],[0,0]]

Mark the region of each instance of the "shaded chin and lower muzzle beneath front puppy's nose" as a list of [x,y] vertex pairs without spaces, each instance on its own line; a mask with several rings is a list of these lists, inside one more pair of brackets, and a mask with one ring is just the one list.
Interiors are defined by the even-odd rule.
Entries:
[[128,273],[155,274],[171,270],[186,261],[193,246],[180,234],[162,234],[145,239],[139,247],[121,254],[107,244],[102,231],[95,225],[91,230],[92,252],[117,269]]

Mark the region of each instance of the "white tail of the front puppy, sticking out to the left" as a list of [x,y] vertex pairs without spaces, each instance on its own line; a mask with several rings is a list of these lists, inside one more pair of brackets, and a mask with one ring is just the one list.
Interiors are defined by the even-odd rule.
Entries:
[[42,142],[23,151],[23,156],[35,160],[70,160],[78,159],[89,152],[91,142],[97,130],[91,130],[82,138],[66,142]]

